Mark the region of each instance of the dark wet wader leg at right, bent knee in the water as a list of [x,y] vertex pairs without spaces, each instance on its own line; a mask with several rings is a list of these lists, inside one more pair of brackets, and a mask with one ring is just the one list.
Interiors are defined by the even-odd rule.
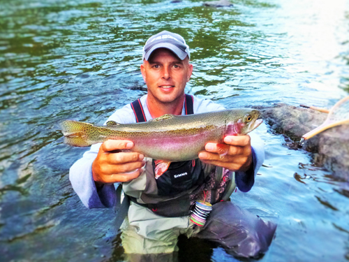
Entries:
[[263,221],[230,201],[213,205],[209,219],[196,236],[218,242],[232,255],[255,257],[267,251],[272,243],[276,224]]

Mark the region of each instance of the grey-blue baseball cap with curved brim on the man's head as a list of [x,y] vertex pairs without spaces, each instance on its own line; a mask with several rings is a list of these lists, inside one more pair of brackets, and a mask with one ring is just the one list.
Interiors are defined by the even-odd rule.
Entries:
[[191,58],[189,46],[186,44],[184,38],[179,36],[179,34],[174,34],[169,31],[161,31],[158,34],[151,36],[144,45],[143,60],[148,60],[151,52],[158,48],[170,49],[181,60],[185,59],[186,56]]

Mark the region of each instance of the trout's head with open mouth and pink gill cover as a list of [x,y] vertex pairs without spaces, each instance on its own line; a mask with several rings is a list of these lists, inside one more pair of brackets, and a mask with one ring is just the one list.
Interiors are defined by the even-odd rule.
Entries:
[[243,136],[253,131],[263,120],[260,111],[255,109],[243,109],[232,112],[232,121],[228,121],[225,136]]

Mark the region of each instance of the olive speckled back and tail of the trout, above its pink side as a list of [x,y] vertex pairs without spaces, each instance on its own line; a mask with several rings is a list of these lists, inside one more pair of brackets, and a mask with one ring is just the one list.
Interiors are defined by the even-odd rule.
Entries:
[[[224,126],[241,121],[246,115],[259,116],[258,110],[242,108],[221,110],[195,115],[176,116],[163,115],[149,122],[135,124],[117,124],[110,122],[107,126],[94,126],[92,124],[66,120],[61,123],[64,133],[64,143],[77,147],[104,142],[107,139],[142,140],[149,136],[156,138],[178,138],[202,133],[214,129],[224,129]],[[251,131],[251,130],[250,130]],[[241,134],[247,133],[242,131]]]

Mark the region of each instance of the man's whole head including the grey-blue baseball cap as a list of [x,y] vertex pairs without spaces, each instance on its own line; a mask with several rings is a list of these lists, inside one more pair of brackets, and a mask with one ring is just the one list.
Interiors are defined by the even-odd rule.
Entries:
[[186,82],[193,72],[189,56],[189,47],[178,34],[162,31],[149,38],[140,66],[148,99],[154,103],[182,103]]

